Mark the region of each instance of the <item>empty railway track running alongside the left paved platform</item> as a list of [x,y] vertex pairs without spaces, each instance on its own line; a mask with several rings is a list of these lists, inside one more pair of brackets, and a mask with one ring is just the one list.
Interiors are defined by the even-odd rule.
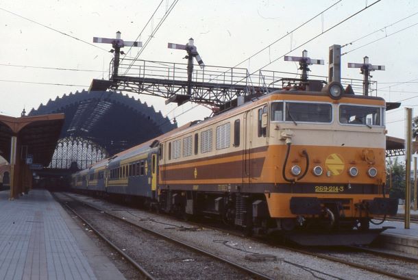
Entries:
[[[175,240],[169,236],[165,236],[162,233],[151,231],[150,229],[137,225],[134,222],[130,222],[129,220],[125,220],[123,218],[120,218],[119,216],[115,216],[111,213],[108,213],[103,209],[99,209],[94,205],[86,204],[82,201],[77,201],[73,196],[69,196],[66,194],[61,194],[59,196],[60,197],[58,197],[57,194],[54,194],[54,197],[58,201],[60,201],[60,203],[69,208],[71,212],[73,212],[77,217],[82,219],[83,222],[86,225],[88,225],[88,227],[90,227],[90,229],[95,231],[97,235],[103,238],[103,240],[110,244],[110,246],[112,246],[116,251],[121,253],[121,255],[125,257],[125,259],[127,259],[136,269],[138,269],[144,275],[145,279],[184,279],[184,275],[180,276],[182,274],[179,271],[181,270],[181,268],[177,265],[164,266],[163,275],[161,275],[161,273],[158,272],[158,269],[162,269],[161,263],[157,264],[156,266],[150,266],[149,262],[147,262],[147,265],[143,265],[143,259],[138,259],[138,256],[135,254],[131,255],[132,249],[128,250],[125,248],[121,248],[121,245],[118,244],[118,241],[114,240],[115,237],[116,239],[122,239],[123,236],[115,234],[115,232],[106,233],[107,229],[103,230],[103,228],[101,228],[101,226],[98,225],[99,222],[97,222],[97,220],[106,220],[106,222],[112,222],[114,223],[114,225],[116,225],[116,228],[120,228],[122,231],[128,232],[128,234],[130,234],[129,239],[132,241],[132,244],[135,243],[133,240],[134,238],[136,238],[135,233],[140,232],[140,234],[146,235],[145,240],[147,240],[148,243],[149,240],[154,240],[156,242],[153,242],[153,244],[161,244],[161,246],[165,247],[162,248],[162,251],[164,251],[165,253],[167,253],[167,248],[171,246],[172,248],[169,251],[174,252],[174,255],[169,256],[168,258],[180,258],[182,259],[183,263],[194,262],[193,265],[190,265],[188,267],[196,271],[189,271],[187,277],[193,277],[193,279],[210,279],[210,273],[216,272],[217,277],[221,276],[224,279],[273,279],[267,275],[263,275],[260,272],[256,272],[254,270],[251,270],[250,268],[246,268],[245,266],[241,266],[239,264],[235,264],[234,262],[230,262],[228,259],[224,259],[219,255],[214,255],[208,251],[198,249],[195,246],[190,246],[189,244],[186,244],[179,240]],[[63,199],[62,196],[64,196],[65,199]],[[88,216],[88,218],[86,218],[86,216]],[[94,220],[95,222],[93,222]],[[114,228],[114,226],[112,226],[112,228]],[[150,236],[152,236],[152,238]],[[145,246],[145,241],[142,240],[140,242],[136,242],[136,244],[141,244],[141,246]],[[156,247],[156,251],[160,250]],[[140,249],[143,249],[143,247],[141,247]],[[179,252],[185,252],[185,255],[181,257],[179,256]],[[166,257],[167,259],[167,256],[164,257]],[[203,270],[199,271],[198,268],[195,268],[197,266],[195,260],[197,259],[199,259],[199,264],[202,264],[203,266],[206,266],[210,268],[210,270],[212,270],[206,271],[204,278],[199,277],[199,275],[202,276],[201,272]],[[193,273],[197,273],[197,275],[193,276]],[[175,276],[176,274],[177,277]]]

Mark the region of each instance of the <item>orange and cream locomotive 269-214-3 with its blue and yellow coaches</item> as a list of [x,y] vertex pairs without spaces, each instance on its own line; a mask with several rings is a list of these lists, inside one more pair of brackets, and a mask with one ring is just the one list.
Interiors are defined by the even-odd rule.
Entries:
[[239,99],[75,173],[72,184],[300,244],[367,244],[384,230],[369,222],[397,212],[385,194],[385,110],[380,97],[308,81]]

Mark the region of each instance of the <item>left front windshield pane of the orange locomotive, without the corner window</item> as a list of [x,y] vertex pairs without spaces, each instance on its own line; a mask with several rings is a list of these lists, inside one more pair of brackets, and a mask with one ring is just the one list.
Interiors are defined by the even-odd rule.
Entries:
[[327,103],[286,102],[286,121],[302,123],[331,123],[332,105]]

